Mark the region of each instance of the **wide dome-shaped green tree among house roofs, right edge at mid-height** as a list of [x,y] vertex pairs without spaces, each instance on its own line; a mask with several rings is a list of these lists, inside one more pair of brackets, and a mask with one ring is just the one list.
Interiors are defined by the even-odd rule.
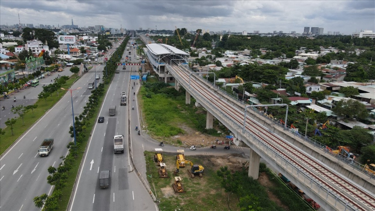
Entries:
[[332,110],[336,114],[346,115],[350,119],[365,119],[369,115],[365,105],[354,99],[341,100],[336,103],[336,106]]

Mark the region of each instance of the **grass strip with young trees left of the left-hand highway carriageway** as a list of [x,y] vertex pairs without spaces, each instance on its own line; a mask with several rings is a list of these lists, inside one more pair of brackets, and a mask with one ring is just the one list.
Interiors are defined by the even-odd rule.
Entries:
[[[66,84],[64,84],[62,87],[64,89],[69,89],[69,87],[72,86],[74,81],[76,81],[79,77],[74,74],[68,81],[66,81]],[[24,116],[24,124],[22,122],[21,118],[17,118],[16,123],[12,126],[13,127],[13,135],[10,127],[3,128],[3,131],[5,134],[0,135],[0,154],[3,154],[6,149],[9,148],[17,139],[20,137],[25,131],[30,128],[34,122],[36,122],[40,117],[42,117],[51,107],[59,101],[63,95],[65,95],[67,91],[59,89],[58,95],[57,92],[52,93],[52,96],[48,96],[48,98],[45,99],[38,99],[35,103],[37,105],[37,108],[32,110],[28,110],[26,115]]]

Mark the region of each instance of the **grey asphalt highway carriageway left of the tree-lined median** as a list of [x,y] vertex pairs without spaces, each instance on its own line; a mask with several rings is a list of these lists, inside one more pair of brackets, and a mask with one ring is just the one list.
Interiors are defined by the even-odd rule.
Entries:
[[[61,73],[68,73],[68,71]],[[73,91],[75,115],[83,111],[91,93],[91,90],[87,89],[87,84],[93,80],[94,71],[90,70],[71,87],[72,89],[82,87]],[[39,85],[27,89],[34,89],[33,92],[37,92],[42,87]],[[28,96],[37,96],[37,93]],[[46,180],[47,169],[49,166],[57,167],[62,162],[60,157],[68,153],[66,145],[73,141],[68,133],[71,125],[71,95],[67,92],[3,154],[0,158],[1,210],[39,210],[34,205],[33,198],[43,193],[51,194],[52,187]],[[54,139],[53,149],[48,157],[39,157],[39,146],[46,138]]]

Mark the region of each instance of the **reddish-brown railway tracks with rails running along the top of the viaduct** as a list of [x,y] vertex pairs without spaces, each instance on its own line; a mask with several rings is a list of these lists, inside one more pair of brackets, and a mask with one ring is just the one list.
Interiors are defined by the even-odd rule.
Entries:
[[[189,72],[179,68],[175,62],[172,61],[171,63],[173,71],[175,71],[179,77],[183,78],[184,82],[189,81]],[[194,89],[199,95],[205,96],[209,104],[219,109],[226,116],[232,118],[237,125],[243,127],[244,110],[238,110],[232,105],[228,104],[228,102],[223,101],[223,99],[210,90],[210,87],[203,85],[204,82],[201,81],[199,77],[195,78],[197,80],[190,81],[190,86],[192,89]],[[180,81],[180,83],[183,83],[183,81]],[[320,164],[320,161],[313,159],[310,155],[302,153],[300,149],[296,148],[275,134],[270,133],[266,128],[252,119],[246,118],[245,128],[259,140],[266,143],[267,146],[278,152],[295,166],[298,166],[300,170],[305,172],[311,178],[315,179],[321,184],[322,187],[339,196],[341,198],[339,200],[342,200],[344,204],[350,205],[349,207],[353,208],[354,210],[375,211],[374,195],[369,194],[360,187],[351,184],[347,179],[342,178],[331,169]]]

